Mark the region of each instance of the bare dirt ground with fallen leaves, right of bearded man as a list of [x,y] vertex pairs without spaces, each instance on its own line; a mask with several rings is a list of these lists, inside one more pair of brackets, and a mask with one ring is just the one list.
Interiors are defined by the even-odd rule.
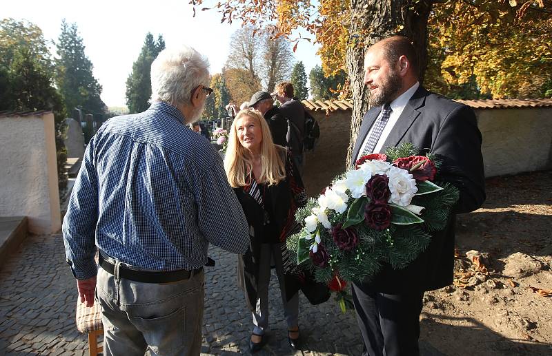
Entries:
[[444,355],[552,355],[552,171],[486,194],[458,216],[455,284],[426,293],[420,338]]

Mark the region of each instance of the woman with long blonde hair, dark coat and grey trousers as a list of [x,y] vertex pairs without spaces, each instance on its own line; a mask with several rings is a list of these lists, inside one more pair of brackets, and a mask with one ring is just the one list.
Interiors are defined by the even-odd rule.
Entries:
[[271,260],[284,304],[288,342],[297,349],[299,298],[297,289],[286,291],[297,276],[290,273],[286,238],[299,231],[294,216],[306,202],[303,182],[288,151],[273,143],[268,124],[251,109],[240,111],[230,127],[224,169],[249,224],[250,247],[239,255],[238,282],[253,312],[250,350],[255,353],[262,348],[268,328]]

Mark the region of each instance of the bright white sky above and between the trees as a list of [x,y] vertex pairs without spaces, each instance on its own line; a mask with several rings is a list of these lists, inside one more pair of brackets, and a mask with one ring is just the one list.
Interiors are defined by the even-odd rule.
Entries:
[[[210,2],[209,2],[210,1]],[[187,44],[210,61],[210,72],[221,72],[226,62],[231,34],[241,27],[241,21],[232,25],[220,23],[216,10],[201,11],[193,17],[189,0],[165,1],[3,1],[2,19],[11,17],[27,20],[43,31],[47,40],[59,36],[61,20],[77,23],[79,35],[86,46],[85,53],[94,65],[94,76],[102,85],[101,99],[108,107],[126,105],[126,78],[132,71],[132,63],[140,53],[146,34],[155,39],[161,34],[166,47]],[[206,4],[216,3],[206,0]],[[206,6],[205,4],[201,7]],[[305,30],[302,36],[313,37]],[[317,46],[301,41],[295,58],[303,61],[306,74],[320,64]],[[55,55],[55,48],[52,48]]]

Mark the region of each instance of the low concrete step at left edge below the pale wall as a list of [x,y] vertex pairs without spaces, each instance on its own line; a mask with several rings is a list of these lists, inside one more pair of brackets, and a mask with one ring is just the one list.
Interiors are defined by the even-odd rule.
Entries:
[[0,269],[27,235],[26,216],[0,216]]

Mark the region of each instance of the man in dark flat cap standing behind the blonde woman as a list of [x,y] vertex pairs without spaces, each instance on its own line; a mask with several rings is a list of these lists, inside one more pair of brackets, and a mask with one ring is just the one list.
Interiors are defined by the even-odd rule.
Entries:
[[288,133],[288,123],[286,118],[279,112],[277,106],[274,105],[274,99],[268,92],[256,92],[251,96],[249,107],[263,114],[264,119],[270,127],[272,140],[276,145],[286,147],[288,145],[286,135]]

